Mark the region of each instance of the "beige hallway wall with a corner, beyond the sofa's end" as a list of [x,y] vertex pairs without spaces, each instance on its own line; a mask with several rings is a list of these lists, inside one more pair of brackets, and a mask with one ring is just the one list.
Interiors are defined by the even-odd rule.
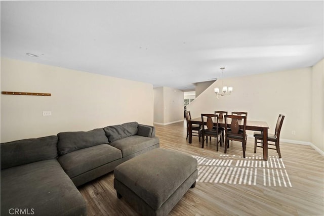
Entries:
[[184,120],[184,95],[170,87],[154,88],[154,123],[169,124]]

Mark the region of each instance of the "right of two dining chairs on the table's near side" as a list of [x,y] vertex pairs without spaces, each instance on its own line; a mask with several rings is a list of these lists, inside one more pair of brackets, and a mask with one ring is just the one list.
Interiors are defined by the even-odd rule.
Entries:
[[[229,145],[229,141],[239,141],[242,143],[243,149],[243,157],[245,158],[245,150],[247,147],[247,138],[246,134],[247,130],[247,116],[241,115],[225,115],[225,125],[228,125],[229,120],[231,120],[231,124],[228,127],[225,127],[225,150],[224,153],[227,152],[227,146]],[[243,128],[240,129],[239,125],[243,125]]]

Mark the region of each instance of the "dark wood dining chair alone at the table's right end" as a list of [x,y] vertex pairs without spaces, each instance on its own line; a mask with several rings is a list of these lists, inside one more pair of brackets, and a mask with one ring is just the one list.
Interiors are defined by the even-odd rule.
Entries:
[[[268,149],[276,150],[279,155],[279,158],[281,158],[279,138],[280,138],[280,131],[281,131],[281,127],[282,127],[282,123],[284,122],[284,119],[285,119],[285,115],[279,114],[277,123],[275,125],[274,134],[268,134]],[[254,153],[256,153],[257,147],[263,148],[263,135],[261,132],[254,132],[253,136],[254,136]],[[258,141],[261,141],[261,142],[258,142]],[[271,143],[269,143],[269,142],[271,142]],[[261,145],[258,145],[258,144],[261,144]],[[274,147],[271,147],[271,146],[274,146]]]

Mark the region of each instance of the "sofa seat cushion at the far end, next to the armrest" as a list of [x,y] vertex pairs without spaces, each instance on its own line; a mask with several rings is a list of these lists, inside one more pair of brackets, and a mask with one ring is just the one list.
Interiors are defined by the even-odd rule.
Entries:
[[157,137],[148,138],[148,137],[135,135],[132,137],[127,137],[127,138],[114,141],[112,143],[109,143],[109,145],[117,149],[120,149],[121,152],[123,153],[123,157],[126,157],[128,155],[134,154],[148,147],[154,146],[158,143],[159,143],[159,139]]

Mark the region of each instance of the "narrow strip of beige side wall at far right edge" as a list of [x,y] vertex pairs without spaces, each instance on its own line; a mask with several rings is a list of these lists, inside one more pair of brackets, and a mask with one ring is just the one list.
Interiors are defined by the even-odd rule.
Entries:
[[315,148],[324,151],[324,60],[312,67],[312,135],[311,143]]

